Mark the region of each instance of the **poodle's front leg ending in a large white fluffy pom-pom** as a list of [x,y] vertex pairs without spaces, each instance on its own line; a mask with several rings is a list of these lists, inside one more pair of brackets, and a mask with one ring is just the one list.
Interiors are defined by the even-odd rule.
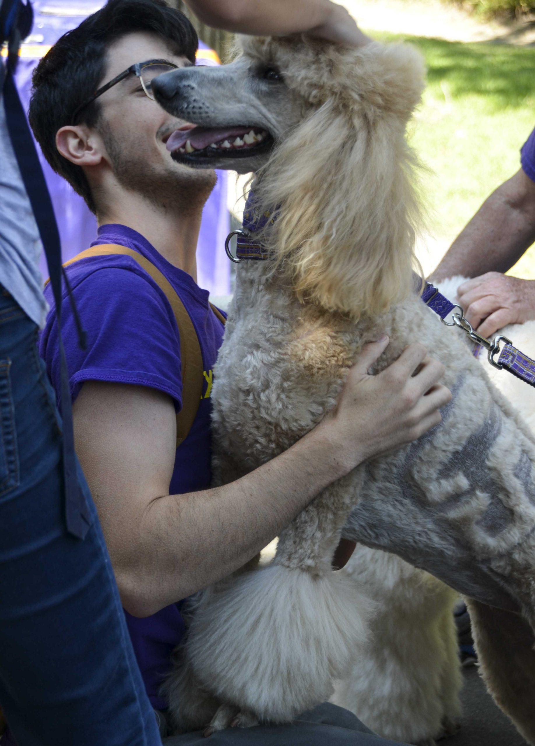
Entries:
[[331,570],[354,483],[316,498],[281,533],[271,565],[219,585],[196,608],[195,674],[259,721],[288,722],[328,700],[368,633],[369,600]]

